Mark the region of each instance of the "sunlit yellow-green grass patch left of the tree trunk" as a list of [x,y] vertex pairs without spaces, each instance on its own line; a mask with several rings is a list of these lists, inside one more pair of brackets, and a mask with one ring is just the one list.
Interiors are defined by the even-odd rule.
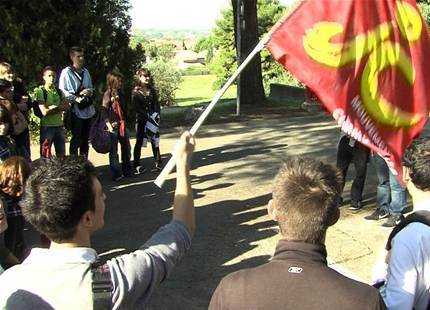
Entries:
[[[212,89],[215,75],[183,76],[183,81],[176,91],[175,102],[178,106],[189,106],[212,100],[218,90]],[[236,85],[230,86],[222,99],[236,98]]]

